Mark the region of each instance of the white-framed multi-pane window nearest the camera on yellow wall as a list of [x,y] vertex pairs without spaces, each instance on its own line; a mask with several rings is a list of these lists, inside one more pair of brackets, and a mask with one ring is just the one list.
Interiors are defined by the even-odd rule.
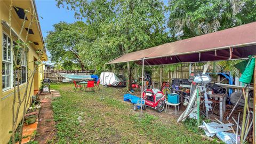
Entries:
[[11,88],[12,51],[11,39],[3,34],[2,84],[3,90]]

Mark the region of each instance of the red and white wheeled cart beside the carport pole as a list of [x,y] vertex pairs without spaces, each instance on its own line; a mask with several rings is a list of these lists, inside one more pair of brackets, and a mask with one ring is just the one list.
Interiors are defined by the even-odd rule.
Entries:
[[165,95],[163,92],[159,91],[158,89],[145,90],[142,96],[146,103],[146,105],[142,107],[143,109],[146,109],[146,107],[151,107],[157,109],[159,113],[164,110]]

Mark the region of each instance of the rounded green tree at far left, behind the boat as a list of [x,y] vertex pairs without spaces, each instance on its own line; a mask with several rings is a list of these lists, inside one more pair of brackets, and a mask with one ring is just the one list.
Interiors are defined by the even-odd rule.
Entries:
[[82,21],[75,23],[60,22],[49,31],[46,37],[46,48],[51,54],[52,62],[62,61],[62,67],[66,69],[86,68],[81,52],[83,41],[87,41],[86,24]]

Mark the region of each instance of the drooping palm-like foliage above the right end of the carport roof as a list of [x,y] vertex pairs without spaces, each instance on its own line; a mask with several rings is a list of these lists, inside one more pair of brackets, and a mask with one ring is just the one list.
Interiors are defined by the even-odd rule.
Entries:
[[253,0],[173,0],[168,26],[178,39],[208,34],[255,21],[255,7]]

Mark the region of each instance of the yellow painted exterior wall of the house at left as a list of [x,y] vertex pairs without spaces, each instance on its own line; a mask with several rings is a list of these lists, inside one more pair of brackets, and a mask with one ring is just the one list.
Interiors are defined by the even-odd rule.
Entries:
[[[0,20],[5,20],[5,21],[9,21],[9,9],[8,6],[3,2],[0,1]],[[12,13],[14,14],[14,13]],[[16,19],[12,19],[12,28],[14,29],[14,31],[19,34],[19,30],[21,29],[21,23],[18,22],[18,20]],[[12,130],[12,103],[13,103],[13,94],[14,94],[14,90],[9,89],[3,92],[2,90],[2,35],[3,35],[3,31],[5,31],[5,33],[7,35],[10,36],[9,33],[9,29],[6,29],[2,23],[0,24],[0,71],[1,71],[1,76],[0,76],[0,144],[2,143],[7,143],[10,140],[11,134],[9,134],[9,131]],[[21,39],[22,41],[25,41],[25,36],[26,36],[26,30],[23,30]],[[14,38],[14,37],[13,37]],[[36,53],[36,51],[34,50],[35,47],[33,47],[32,45],[29,46],[29,51],[28,51],[28,55],[27,55],[27,69],[33,70],[34,69],[34,57],[38,58],[38,54]],[[42,65],[39,66],[39,69],[43,69]],[[43,74],[42,71],[38,71],[38,77],[35,77],[36,81],[34,81],[35,83],[40,84],[41,79],[43,78]],[[41,72],[41,73],[40,73]],[[27,74],[29,75],[29,74]],[[31,81],[30,81],[31,83]],[[29,83],[29,86],[30,86]],[[26,88],[26,83],[25,84],[21,84],[20,85],[20,94],[23,95],[25,93],[25,88]],[[31,87],[31,94],[29,95],[31,98],[31,96],[34,94],[34,89],[38,89],[38,87],[34,87],[34,85],[32,84]],[[29,91],[28,91],[29,92]],[[23,97],[21,97],[23,98]],[[17,98],[18,101],[18,98]],[[17,104],[15,105],[17,107]],[[23,105],[20,109],[20,113],[21,111],[23,111]],[[18,122],[21,121],[22,115],[19,114],[19,118],[18,118]]]

